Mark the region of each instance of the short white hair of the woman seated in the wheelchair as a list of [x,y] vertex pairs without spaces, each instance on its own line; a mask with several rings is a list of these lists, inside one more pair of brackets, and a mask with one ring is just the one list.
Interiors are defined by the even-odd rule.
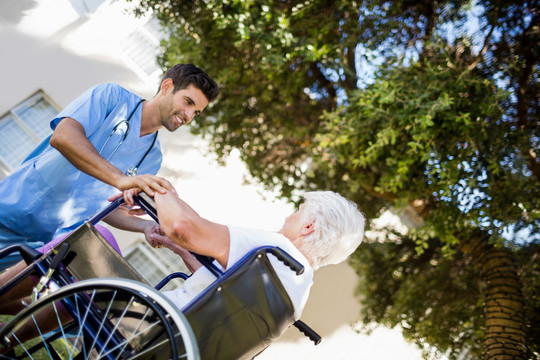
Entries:
[[364,238],[365,218],[357,205],[332,191],[307,192],[304,199],[302,220],[314,221],[314,231],[300,246],[313,268],[347,259]]

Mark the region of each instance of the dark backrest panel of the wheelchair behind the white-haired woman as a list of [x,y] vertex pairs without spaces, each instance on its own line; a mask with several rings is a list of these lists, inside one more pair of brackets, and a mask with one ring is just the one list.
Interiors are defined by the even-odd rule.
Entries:
[[225,272],[183,312],[202,359],[251,359],[295,320],[292,302],[264,248]]

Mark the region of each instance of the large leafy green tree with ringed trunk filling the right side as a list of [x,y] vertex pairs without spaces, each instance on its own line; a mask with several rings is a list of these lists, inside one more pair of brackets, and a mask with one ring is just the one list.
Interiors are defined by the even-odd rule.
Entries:
[[[170,35],[164,66],[193,62],[223,85],[194,125],[219,156],[240,149],[293,200],[326,188],[368,218],[420,219],[353,258],[360,289],[415,274],[391,282],[395,296],[364,291],[366,321],[453,355],[538,357],[538,1],[142,0],[146,10]],[[386,276],[369,276],[362,264],[381,254]],[[426,296],[410,301],[409,289]]]

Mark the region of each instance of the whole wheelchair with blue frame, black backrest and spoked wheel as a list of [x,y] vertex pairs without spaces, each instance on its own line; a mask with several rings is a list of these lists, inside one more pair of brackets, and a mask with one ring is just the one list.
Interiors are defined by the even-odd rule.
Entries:
[[[158,221],[152,198],[135,201]],[[0,329],[0,359],[253,359],[291,325],[320,343],[295,321],[268,257],[301,274],[289,254],[260,247],[225,272],[194,254],[216,280],[180,311],[159,289],[188,274],[152,287],[95,229],[122,203],[111,203],[45,254],[25,245],[0,250],[0,257],[19,252],[27,264],[1,284],[0,300],[22,281],[34,284],[31,303]]]

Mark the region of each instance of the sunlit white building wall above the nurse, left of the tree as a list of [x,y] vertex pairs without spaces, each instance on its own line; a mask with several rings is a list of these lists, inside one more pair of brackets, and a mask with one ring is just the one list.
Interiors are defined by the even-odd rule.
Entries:
[[140,76],[122,48],[143,20],[124,13],[120,2],[80,16],[67,0],[4,0],[0,17],[0,114],[38,89],[60,107],[103,82],[153,96],[156,82]]

